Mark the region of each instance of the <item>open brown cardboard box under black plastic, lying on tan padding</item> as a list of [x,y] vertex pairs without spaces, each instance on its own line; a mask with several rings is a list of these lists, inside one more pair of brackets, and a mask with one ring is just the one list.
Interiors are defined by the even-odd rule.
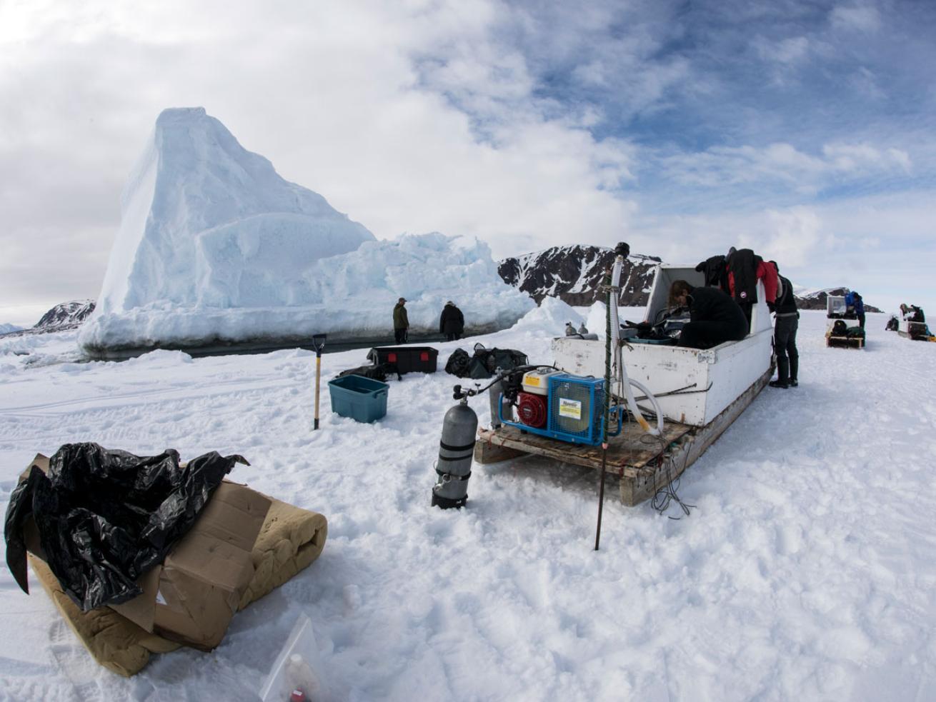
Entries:
[[[48,471],[49,459],[39,454],[30,465]],[[111,608],[147,632],[211,651],[254,577],[251,551],[270,505],[254,490],[224,481],[165,561],[139,578],[142,594]],[[43,558],[29,531],[27,548]]]

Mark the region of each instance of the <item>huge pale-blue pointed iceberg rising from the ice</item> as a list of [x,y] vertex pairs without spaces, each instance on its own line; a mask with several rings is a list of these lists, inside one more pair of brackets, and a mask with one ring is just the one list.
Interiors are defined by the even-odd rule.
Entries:
[[[164,110],[123,197],[120,231],[80,344],[108,349],[387,335],[400,297],[414,332],[451,297],[469,329],[533,306],[481,241],[376,241],[324,197],[288,183],[205,110]],[[340,297],[339,297],[340,296]],[[342,300],[340,305],[335,300]]]

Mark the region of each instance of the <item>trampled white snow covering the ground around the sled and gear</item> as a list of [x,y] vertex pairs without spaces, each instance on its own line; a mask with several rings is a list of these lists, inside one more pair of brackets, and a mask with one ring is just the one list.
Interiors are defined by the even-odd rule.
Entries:
[[[565,316],[481,341],[549,361]],[[37,451],[95,441],[241,453],[233,479],[329,518],[322,557],[216,651],[131,680],[0,570],[0,699],[253,699],[302,613],[348,700],[936,699],[936,344],[885,321],[868,315],[866,350],[829,349],[803,313],[800,387],[767,388],[689,469],[692,515],[624,507],[612,484],[597,553],[596,475],[577,467],[475,466],[469,508],[430,507],[459,343],[391,381],[375,425],[332,416],[326,390],[317,432],[308,352],[27,366],[76,332],[0,344],[0,507]],[[325,356],[324,379],[365,353]]]

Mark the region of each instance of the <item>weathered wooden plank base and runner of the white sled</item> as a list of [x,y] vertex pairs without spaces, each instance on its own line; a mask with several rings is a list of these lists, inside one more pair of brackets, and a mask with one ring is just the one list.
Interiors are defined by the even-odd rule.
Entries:
[[[661,442],[631,423],[625,426],[620,436],[612,437],[607,446],[606,470],[608,474],[621,478],[622,503],[639,505],[681,475],[753,402],[757,393],[768,384],[772,374],[771,367],[704,427],[667,421]],[[601,446],[566,444],[507,426],[496,430],[479,429],[477,433],[475,462],[480,464],[509,461],[534,454],[601,470]]]

